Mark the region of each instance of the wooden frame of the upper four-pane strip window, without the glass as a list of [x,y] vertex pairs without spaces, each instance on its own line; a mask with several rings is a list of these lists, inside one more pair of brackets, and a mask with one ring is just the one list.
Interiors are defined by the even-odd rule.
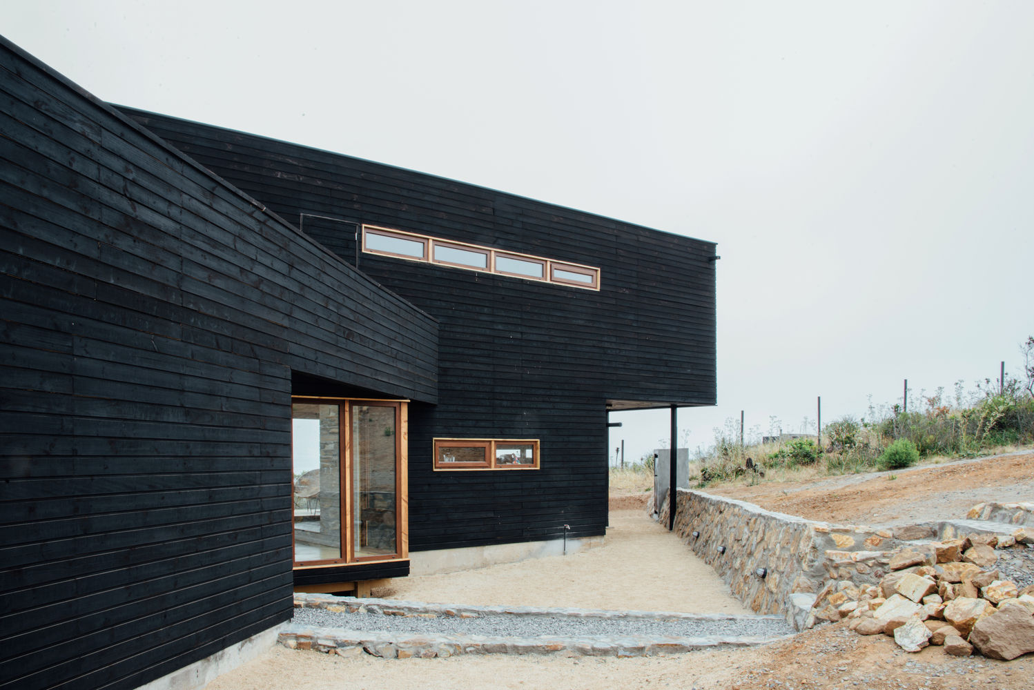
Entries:
[[[371,249],[367,243],[367,236],[378,234],[388,238],[396,238],[399,240],[408,240],[412,242],[419,242],[424,247],[423,258],[417,256],[410,256],[408,254],[397,254],[395,252],[385,251],[381,249]],[[363,251],[367,254],[375,254],[378,256],[390,256],[392,258],[399,258],[406,261],[417,261],[419,263],[430,263],[432,265],[447,266],[450,269],[460,269],[462,271],[475,271],[477,273],[490,273],[496,276],[506,276],[507,278],[519,278],[521,280],[531,280],[537,283],[550,283],[552,285],[562,285],[565,287],[577,287],[583,290],[600,290],[600,269],[591,265],[584,265],[581,263],[572,263],[570,261],[559,261],[544,256],[535,256],[533,254],[522,254],[520,252],[504,251],[493,249],[491,247],[484,247],[482,245],[472,245],[466,242],[457,242],[455,240],[446,240],[444,238],[434,238],[429,234],[420,234],[418,232],[407,232],[405,230],[396,230],[390,227],[382,227],[379,225],[363,225]],[[435,247],[446,247],[450,249],[461,249],[468,252],[475,252],[478,254],[483,254],[485,256],[485,268],[474,266],[467,263],[456,263],[454,261],[446,261],[434,258],[434,248]],[[542,277],[527,276],[521,273],[513,273],[510,271],[500,271],[496,269],[495,260],[496,258],[511,258],[519,261],[528,261],[530,263],[538,263],[542,266]],[[571,280],[565,278],[558,278],[554,275],[555,271],[568,271],[570,273],[576,273],[582,276],[587,276],[590,280],[589,282]]]

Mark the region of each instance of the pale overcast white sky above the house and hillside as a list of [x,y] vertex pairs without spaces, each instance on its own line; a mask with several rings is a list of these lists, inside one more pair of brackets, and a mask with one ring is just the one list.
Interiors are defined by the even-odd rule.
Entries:
[[[1034,335],[1034,2],[36,0],[0,32],[109,101],[718,242],[693,448],[1018,375]],[[613,417],[612,453],[668,434]]]

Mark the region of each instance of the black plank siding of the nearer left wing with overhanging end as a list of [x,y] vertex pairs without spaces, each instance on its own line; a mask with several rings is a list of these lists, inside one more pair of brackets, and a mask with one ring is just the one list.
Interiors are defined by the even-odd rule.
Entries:
[[437,324],[5,41],[0,99],[0,687],[134,688],[291,617],[293,377],[433,403]]

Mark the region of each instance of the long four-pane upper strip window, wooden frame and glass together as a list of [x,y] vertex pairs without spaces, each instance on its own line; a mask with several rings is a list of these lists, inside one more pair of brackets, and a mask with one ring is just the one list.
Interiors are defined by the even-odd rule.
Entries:
[[377,225],[363,225],[363,251],[408,261],[523,278],[566,287],[600,289],[600,269],[595,266]]

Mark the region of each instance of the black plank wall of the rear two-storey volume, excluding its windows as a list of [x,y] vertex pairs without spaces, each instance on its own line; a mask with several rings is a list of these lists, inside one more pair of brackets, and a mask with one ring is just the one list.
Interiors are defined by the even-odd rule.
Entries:
[[[123,108],[356,261],[355,223],[598,266],[599,291],[372,254],[439,320],[439,401],[410,407],[410,552],[601,535],[607,416],[716,400],[714,245],[389,165]],[[432,439],[538,438],[538,471],[432,469]]]

